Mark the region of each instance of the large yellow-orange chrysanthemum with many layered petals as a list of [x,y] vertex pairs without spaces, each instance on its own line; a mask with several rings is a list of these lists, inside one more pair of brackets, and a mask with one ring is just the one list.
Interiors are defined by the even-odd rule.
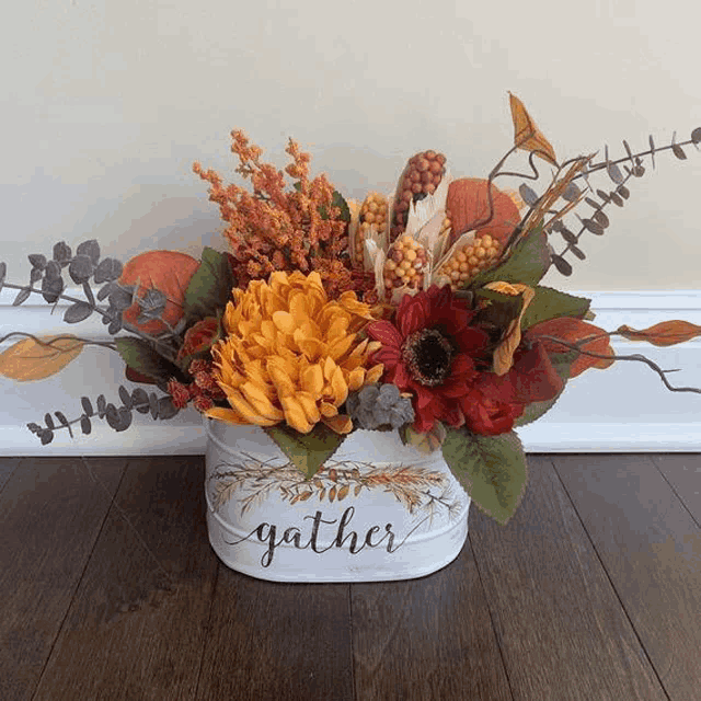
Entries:
[[230,409],[207,415],[258,426],[284,421],[303,434],[322,421],[348,433],[350,417],[338,407],[383,369],[366,369],[378,345],[357,341],[368,321],[370,308],[355,292],[329,301],[315,272],[273,273],[269,283],[234,289],[223,317],[227,336],[212,348],[215,379]]

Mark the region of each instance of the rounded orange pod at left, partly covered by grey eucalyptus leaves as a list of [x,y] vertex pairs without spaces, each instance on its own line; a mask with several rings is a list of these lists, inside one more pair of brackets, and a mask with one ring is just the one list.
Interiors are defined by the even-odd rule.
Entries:
[[[148,251],[133,257],[125,266],[119,278],[122,285],[138,285],[138,296],[143,297],[147,290],[156,288],[168,298],[162,318],[171,326],[183,317],[183,302],[189,278],[199,267],[199,261],[186,253],[176,251]],[[133,324],[143,333],[158,335],[166,331],[166,325],[159,319],[137,323],[139,306],[135,302],[124,312],[124,321]]]

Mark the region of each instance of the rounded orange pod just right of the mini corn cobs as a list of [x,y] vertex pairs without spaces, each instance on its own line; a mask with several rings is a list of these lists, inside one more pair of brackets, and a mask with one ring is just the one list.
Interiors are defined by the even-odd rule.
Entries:
[[[450,183],[446,202],[452,225],[450,245],[466,231],[474,229],[475,223],[487,219],[490,203],[486,185],[487,181],[479,177],[462,177]],[[489,233],[503,249],[521,217],[514,200],[495,185],[492,185],[492,218],[478,228],[475,237]]]

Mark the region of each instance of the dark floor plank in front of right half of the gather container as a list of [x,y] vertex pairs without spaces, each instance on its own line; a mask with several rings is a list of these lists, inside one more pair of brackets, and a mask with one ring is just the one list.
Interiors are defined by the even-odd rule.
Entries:
[[352,601],[357,699],[510,701],[469,542],[427,577],[352,585]]

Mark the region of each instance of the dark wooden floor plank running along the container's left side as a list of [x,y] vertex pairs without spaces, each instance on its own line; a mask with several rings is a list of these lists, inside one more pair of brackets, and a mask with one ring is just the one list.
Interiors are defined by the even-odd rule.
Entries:
[[130,460],[36,701],[192,699],[217,572],[202,457]]

